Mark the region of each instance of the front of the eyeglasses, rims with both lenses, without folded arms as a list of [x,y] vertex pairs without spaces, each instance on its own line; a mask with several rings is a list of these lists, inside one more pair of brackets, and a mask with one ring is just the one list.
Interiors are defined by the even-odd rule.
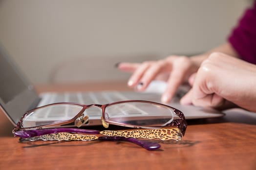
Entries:
[[[101,109],[99,114],[95,109]],[[79,104],[60,102],[28,111],[17,123],[13,133],[20,130],[45,129],[68,124],[77,127],[88,123],[88,118],[101,116],[105,128],[109,124],[132,128],[159,129],[177,127],[184,136],[187,122],[181,111],[171,106],[149,101],[120,101],[108,104]]]

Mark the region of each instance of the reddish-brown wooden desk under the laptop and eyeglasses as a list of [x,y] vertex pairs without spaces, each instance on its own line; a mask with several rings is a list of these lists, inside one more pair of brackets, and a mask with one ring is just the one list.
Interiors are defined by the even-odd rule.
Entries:
[[[39,92],[126,89],[125,84],[37,86]],[[256,115],[231,110],[223,118],[188,121],[180,143],[147,151],[128,142],[19,143],[0,113],[0,169],[36,170],[256,170]]]

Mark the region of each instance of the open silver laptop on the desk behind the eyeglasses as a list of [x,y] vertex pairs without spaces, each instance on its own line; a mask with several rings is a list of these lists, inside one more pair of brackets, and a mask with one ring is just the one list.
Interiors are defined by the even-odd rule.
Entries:
[[[153,82],[141,93],[135,91],[100,91],[100,92],[65,92],[37,94],[33,85],[12,61],[7,51],[0,45],[0,108],[16,125],[28,110],[55,102],[78,102],[82,104],[106,104],[124,100],[146,100],[160,102],[164,89],[163,82]],[[192,105],[181,105],[179,99],[187,92],[181,86],[174,99],[168,103],[181,110],[186,119],[201,119],[221,117],[224,114],[211,108]],[[89,122],[84,126],[101,125],[101,112],[88,113]],[[138,115],[139,116],[139,115]],[[48,119],[48,118],[47,118]],[[54,118],[52,118],[54,119]],[[40,122],[35,120],[35,125]],[[74,125],[68,125],[74,126]]]

